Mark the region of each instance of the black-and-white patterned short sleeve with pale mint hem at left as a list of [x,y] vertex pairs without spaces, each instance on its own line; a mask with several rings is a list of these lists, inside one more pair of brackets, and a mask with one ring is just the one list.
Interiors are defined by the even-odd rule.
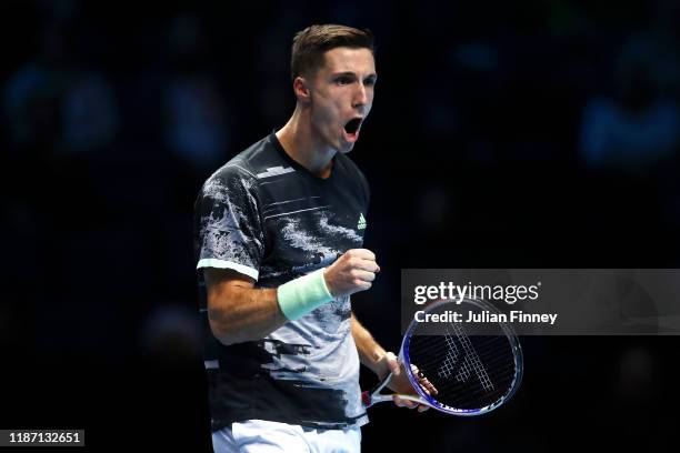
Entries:
[[232,269],[258,280],[264,232],[257,180],[231,165],[210,177],[196,201],[196,232],[197,269]]

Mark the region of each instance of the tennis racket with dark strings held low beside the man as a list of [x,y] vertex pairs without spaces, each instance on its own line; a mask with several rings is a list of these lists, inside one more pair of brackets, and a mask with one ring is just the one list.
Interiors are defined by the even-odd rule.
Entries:
[[[417,319],[441,320],[453,312],[461,313],[462,322],[411,321],[401,343],[399,362],[418,394],[399,396],[451,415],[486,414],[517,391],[522,379],[522,350],[511,326],[494,321],[502,319],[498,316],[500,311],[482,300],[437,301]],[[468,322],[469,319],[472,321]],[[429,394],[420,384],[422,378],[434,385],[436,394]],[[367,407],[392,401],[394,394],[380,393],[391,379],[390,373],[370,392],[361,394]]]

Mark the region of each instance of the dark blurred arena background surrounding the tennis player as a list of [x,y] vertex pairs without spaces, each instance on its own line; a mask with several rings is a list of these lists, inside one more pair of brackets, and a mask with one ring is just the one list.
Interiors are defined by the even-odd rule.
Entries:
[[[388,349],[403,268],[679,266],[674,2],[4,1],[0,427],[209,451],[193,200],[288,120],[291,38],[323,22],[377,38],[350,157],[382,272],[353,306]],[[507,406],[376,406],[364,451],[670,450],[677,338],[522,344]]]

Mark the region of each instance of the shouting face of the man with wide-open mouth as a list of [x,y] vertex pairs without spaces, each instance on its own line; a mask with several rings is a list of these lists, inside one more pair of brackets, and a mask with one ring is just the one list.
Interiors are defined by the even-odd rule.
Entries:
[[378,76],[369,49],[334,48],[310,81],[311,123],[329,147],[349,152],[373,104]]

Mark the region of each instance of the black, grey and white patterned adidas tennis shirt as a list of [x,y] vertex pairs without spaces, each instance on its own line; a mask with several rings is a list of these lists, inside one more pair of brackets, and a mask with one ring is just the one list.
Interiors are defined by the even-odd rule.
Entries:
[[256,288],[277,288],[361,248],[368,205],[368,182],[348,157],[336,153],[321,179],[273,132],[208,178],[196,201],[194,250],[212,431],[252,419],[318,429],[368,422],[349,296],[227,346],[210,331],[201,272],[232,269]]

